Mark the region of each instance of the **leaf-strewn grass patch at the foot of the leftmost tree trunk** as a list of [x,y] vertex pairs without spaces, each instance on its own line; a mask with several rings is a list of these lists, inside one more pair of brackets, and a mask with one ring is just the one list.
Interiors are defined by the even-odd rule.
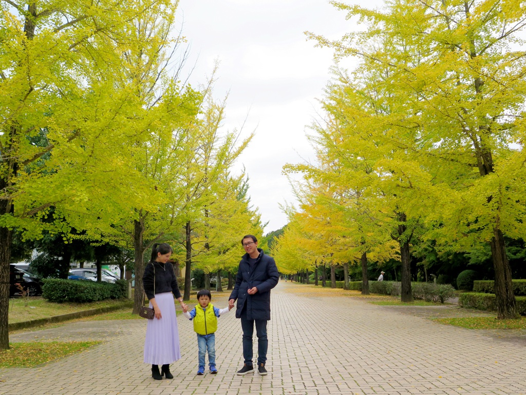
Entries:
[[100,341],[10,343],[0,351],[0,368],[31,368],[76,352]]

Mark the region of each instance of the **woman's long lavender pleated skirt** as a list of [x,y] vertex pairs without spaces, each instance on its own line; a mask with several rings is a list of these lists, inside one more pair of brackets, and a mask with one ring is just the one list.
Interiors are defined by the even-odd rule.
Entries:
[[181,358],[174,295],[171,292],[156,293],[155,301],[161,310],[162,318],[147,320],[144,362],[164,365]]

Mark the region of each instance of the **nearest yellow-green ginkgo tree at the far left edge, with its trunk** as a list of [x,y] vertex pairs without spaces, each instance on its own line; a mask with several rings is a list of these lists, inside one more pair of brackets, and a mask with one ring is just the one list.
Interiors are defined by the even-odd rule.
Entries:
[[162,14],[171,4],[0,4],[0,348],[5,349],[12,229],[36,238],[54,226],[67,232],[63,221],[41,221],[50,208],[58,215],[62,207],[89,200],[97,190],[87,192],[86,180],[97,184],[113,177],[119,180],[113,187],[125,184],[123,143],[143,141],[148,120],[136,95],[139,81],[120,84],[123,52],[137,45],[139,39],[128,33],[139,16]]

